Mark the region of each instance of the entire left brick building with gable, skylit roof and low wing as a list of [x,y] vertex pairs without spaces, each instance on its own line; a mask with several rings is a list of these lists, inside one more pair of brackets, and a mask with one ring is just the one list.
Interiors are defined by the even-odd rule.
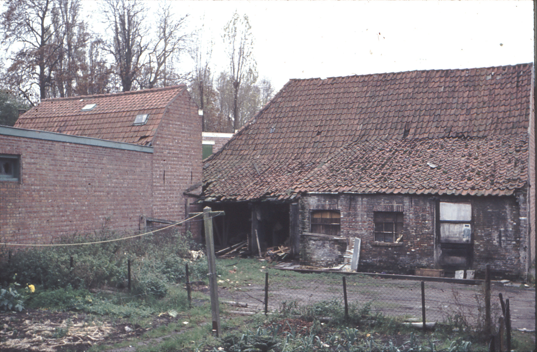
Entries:
[[172,223],[197,200],[198,106],[185,85],[46,99],[0,126],[0,161],[0,242]]

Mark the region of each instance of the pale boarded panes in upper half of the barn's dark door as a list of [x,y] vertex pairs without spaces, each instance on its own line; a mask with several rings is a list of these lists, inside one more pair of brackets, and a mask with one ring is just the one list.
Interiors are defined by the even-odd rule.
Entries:
[[469,243],[471,204],[440,202],[440,241]]

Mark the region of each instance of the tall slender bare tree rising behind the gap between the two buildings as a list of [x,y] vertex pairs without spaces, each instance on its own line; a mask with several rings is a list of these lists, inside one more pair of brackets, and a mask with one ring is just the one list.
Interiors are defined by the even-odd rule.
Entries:
[[[253,58],[253,34],[248,21],[248,16],[239,16],[237,12],[224,27],[224,44],[227,46],[229,57],[229,74],[233,86],[233,127],[237,130],[245,120],[240,118],[239,91],[243,84],[244,76],[256,71],[256,60]],[[254,82],[255,83],[255,82]]]

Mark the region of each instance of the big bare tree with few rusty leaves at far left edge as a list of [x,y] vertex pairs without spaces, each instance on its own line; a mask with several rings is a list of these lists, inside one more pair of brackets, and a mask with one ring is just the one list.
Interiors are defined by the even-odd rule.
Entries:
[[32,86],[37,84],[40,99],[45,99],[59,59],[51,20],[56,4],[54,0],[8,0],[0,16],[3,44],[22,46],[12,58],[8,76],[32,105]]

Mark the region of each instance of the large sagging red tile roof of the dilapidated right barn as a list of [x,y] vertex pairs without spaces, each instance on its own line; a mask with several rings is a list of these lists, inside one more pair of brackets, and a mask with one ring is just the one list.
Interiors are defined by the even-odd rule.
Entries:
[[[397,178],[399,181],[390,188],[380,182],[376,174],[367,174],[369,181],[376,180],[372,185],[359,183],[357,174],[353,180],[346,179],[349,184],[338,184],[336,180],[329,180],[343,177],[335,170],[331,171],[333,175],[328,171],[317,175],[324,177],[324,181],[318,180],[320,183],[309,183],[307,175],[321,172],[315,168],[327,160],[332,160],[331,165],[339,168],[331,159],[332,154],[344,154],[345,148],[341,148],[347,145],[347,148],[364,146],[375,153],[371,145],[359,143],[375,141],[379,147],[389,147],[389,143],[401,142],[400,147],[404,149],[405,140],[438,143],[446,138],[447,146],[468,138],[468,141],[485,143],[480,148],[489,148],[489,144],[503,143],[504,138],[527,135],[532,84],[531,63],[291,80],[249,124],[204,162],[204,195],[209,200],[288,198],[303,191],[339,192],[350,183],[357,189],[362,187],[375,192],[512,193],[512,187],[521,185],[520,180],[509,183],[505,177],[500,177],[503,174],[495,171],[504,170],[506,159],[502,150],[507,150],[505,148],[496,154],[487,154],[500,163],[496,169],[480,166],[481,172],[488,176],[478,179],[495,179],[488,184],[486,180],[475,181],[474,176],[472,182],[462,180],[459,174],[447,174],[446,178],[431,179],[430,184],[423,186],[425,188],[416,182],[410,185],[406,178]],[[500,142],[485,137],[497,137]],[[428,146],[427,142],[422,142],[415,148],[425,153]],[[456,145],[448,150],[455,153],[457,146],[460,147]],[[527,143],[524,148],[523,154],[518,156],[526,155]],[[517,163],[526,164],[518,156]],[[416,155],[413,159],[397,167],[406,168],[409,162],[423,163]],[[471,163],[458,164],[455,160],[449,165],[452,166],[441,166],[442,172],[453,173],[458,167],[470,167]],[[381,166],[362,164],[354,168],[393,172]],[[520,177],[527,179],[527,175]]]

